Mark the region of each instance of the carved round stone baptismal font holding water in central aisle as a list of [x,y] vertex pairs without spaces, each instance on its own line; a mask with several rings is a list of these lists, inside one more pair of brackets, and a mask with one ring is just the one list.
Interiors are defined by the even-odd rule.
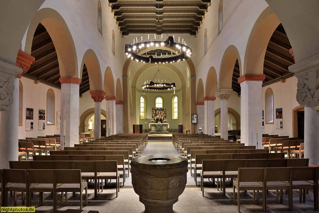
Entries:
[[173,204],[185,189],[188,162],[169,155],[138,157],[131,161],[132,185],[145,205],[142,213],[177,213]]

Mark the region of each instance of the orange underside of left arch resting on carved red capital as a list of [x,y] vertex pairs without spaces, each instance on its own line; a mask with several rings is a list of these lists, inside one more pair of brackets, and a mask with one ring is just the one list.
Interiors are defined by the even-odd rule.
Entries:
[[99,59],[92,49],[85,51],[81,63],[81,70],[79,78],[82,78],[83,66],[86,66],[89,75],[90,90],[101,91],[103,90],[102,73],[100,68]]

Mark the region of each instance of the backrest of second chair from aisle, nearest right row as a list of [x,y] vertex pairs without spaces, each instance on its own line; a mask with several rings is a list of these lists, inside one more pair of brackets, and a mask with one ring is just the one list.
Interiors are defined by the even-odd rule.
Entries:
[[291,167],[273,167],[266,169],[266,181],[289,181]]

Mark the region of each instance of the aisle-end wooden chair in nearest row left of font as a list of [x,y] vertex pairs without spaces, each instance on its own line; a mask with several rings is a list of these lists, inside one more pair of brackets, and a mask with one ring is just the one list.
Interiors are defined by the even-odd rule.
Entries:
[[[71,162],[72,163],[72,162]],[[63,192],[65,192],[65,204],[67,205],[68,192],[80,193],[80,210],[82,210],[82,192],[85,189],[85,205],[87,206],[87,182],[82,182],[81,170],[79,169],[55,169],[54,173],[54,185],[56,188],[55,197],[57,192],[62,193],[62,205],[63,205]],[[56,202],[56,199],[55,199]],[[57,203],[54,204],[55,208]],[[55,209],[56,210],[56,209]]]

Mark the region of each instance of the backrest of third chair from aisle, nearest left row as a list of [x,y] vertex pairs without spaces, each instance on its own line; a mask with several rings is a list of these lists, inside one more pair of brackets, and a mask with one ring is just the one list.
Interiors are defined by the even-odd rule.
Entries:
[[[7,183],[28,183],[26,169],[2,169],[4,186]],[[4,196],[4,195],[1,195]]]

